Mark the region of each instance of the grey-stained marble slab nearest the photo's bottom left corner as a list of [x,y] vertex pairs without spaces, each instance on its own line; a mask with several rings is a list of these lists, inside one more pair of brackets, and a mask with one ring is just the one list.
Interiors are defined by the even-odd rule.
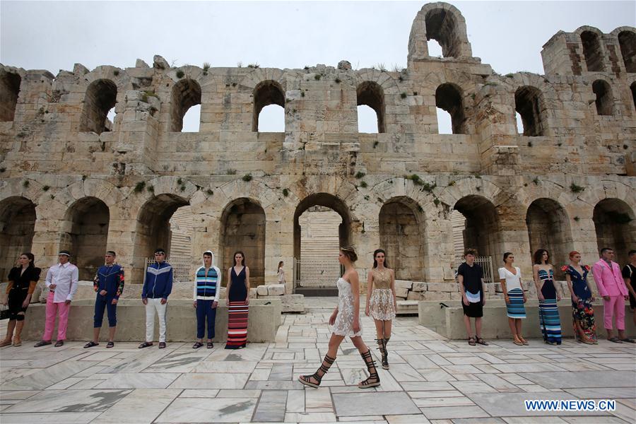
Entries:
[[130,394],[130,390],[42,391],[8,408],[18,412],[103,412]]

